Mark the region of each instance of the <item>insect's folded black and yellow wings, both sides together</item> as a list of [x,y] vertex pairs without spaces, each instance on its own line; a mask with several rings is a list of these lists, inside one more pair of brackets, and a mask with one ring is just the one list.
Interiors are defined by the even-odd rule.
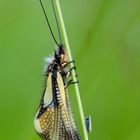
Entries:
[[58,71],[48,74],[34,125],[44,140],[80,140],[64,89],[64,79]]

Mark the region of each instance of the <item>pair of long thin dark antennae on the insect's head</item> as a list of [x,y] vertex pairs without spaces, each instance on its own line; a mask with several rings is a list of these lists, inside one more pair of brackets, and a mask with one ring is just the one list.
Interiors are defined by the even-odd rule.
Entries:
[[50,30],[50,32],[51,32],[51,35],[52,35],[52,37],[53,37],[53,40],[54,40],[54,42],[56,43],[56,45],[59,47],[60,44],[62,44],[62,40],[61,40],[61,33],[60,33],[60,28],[59,28],[58,19],[57,19],[57,15],[56,15],[56,11],[55,11],[55,7],[54,7],[53,0],[51,0],[51,4],[52,4],[54,16],[55,16],[55,21],[56,21],[56,25],[57,25],[57,30],[58,30],[58,36],[59,36],[60,43],[57,42],[57,40],[56,40],[56,38],[55,38],[55,36],[54,36],[53,30],[52,30],[52,28],[51,28],[51,25],[50,25],[50,22],[49,22],[49,19],[48,19],[48,16],[47,16],[47,13],[46,13],[46,10],[45,10],[45,8],[44,8],[44,5],[43,5],[42,0],[39,0],[39,2],[40,2],[40,5],[41,5],[41,8],[42,8],[42,10],[43,10],[43,13],[44,13],[44,15],[45,15],[45,18],[46,18],[46,21],[47,21],[49,30]]

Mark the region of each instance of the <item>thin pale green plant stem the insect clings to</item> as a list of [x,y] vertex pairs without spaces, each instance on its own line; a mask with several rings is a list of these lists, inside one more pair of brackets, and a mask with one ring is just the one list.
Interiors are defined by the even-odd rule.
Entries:
[[[63,16],[62,16],[62,12],[61,12],[61,8],[60,8],[60,4],[59,4],[59,0],[55,0],[55,5],[56,5],[56,11],[58,14],[58,18],[60,21],[60,26],[61,26],[61,30],[62,30],[62,35],[64,38],[64,43],[65,43],[65,47],[67,50],[67,54],[68,54],[68,58],[69,61],[72,61],[72,55],[71,55],[71,51],[70,51],[70,46],[69,46],[69,41],[68,41],[68,37],[67,37],[67,33],[66,33],[66,29],[65,29],[65,25],[64,25],[64,20],[63,20]],[[73,67],[73,63],[70,63],[71,68]],[[77,81],[76,78],[76,73],[75,70],[72,70],[72,78],[74,81]],[[85,118],[84,118],[84,113],[83,113],[83,108],[82,108],[82,103],[81,103],[81,98],[80,98],[80,92],[79,92],[79,87],[78,84],[75,83],[75,91],[76,91],[76,97],[77,97],[77,102],[78,102],[78,107],[79,107],[79,112],[80,112],[80,117],[81,117],[81,123],[82,123],[82,127],[83,127],[83,134],[84,134],[84,139],[88,140],[88,134],[87,134],[87,130],[86,130],[86,126],[85,126]]]

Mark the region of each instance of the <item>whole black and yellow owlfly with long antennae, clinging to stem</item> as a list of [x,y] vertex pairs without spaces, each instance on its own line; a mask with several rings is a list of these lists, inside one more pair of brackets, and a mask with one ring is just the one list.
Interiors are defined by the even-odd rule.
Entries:
[[[45,89],[34,119],[35,130],[43,140],[81,140],[67,91],[67,86],[74,82],[70,80],[66,84],[66,78],[74,67],[67,70],[68,64],[72,62],[68,62],[64,46],[57,43],[41,0],[40,4],[53,39],[57,44],[57,49],[54,56],[49,58],[48,66],[45,70]],[[55,10],[53,11],[55,13]],[[58,32],[60,33],[59,29]]]

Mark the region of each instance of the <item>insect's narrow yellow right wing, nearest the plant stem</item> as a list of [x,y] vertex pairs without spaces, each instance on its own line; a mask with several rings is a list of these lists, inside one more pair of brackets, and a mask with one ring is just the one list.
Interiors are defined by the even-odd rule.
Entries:
[[57,73],[58,87],[60,90],[60,105],[61,105],[61,117],[63,120],[63,128],[65,128],[68,140],[80,140],[79,133],[76,128],[76,124],[73,118],[72,110],[70,107],[69,95],[64,88],[64,79],[61,74]]

